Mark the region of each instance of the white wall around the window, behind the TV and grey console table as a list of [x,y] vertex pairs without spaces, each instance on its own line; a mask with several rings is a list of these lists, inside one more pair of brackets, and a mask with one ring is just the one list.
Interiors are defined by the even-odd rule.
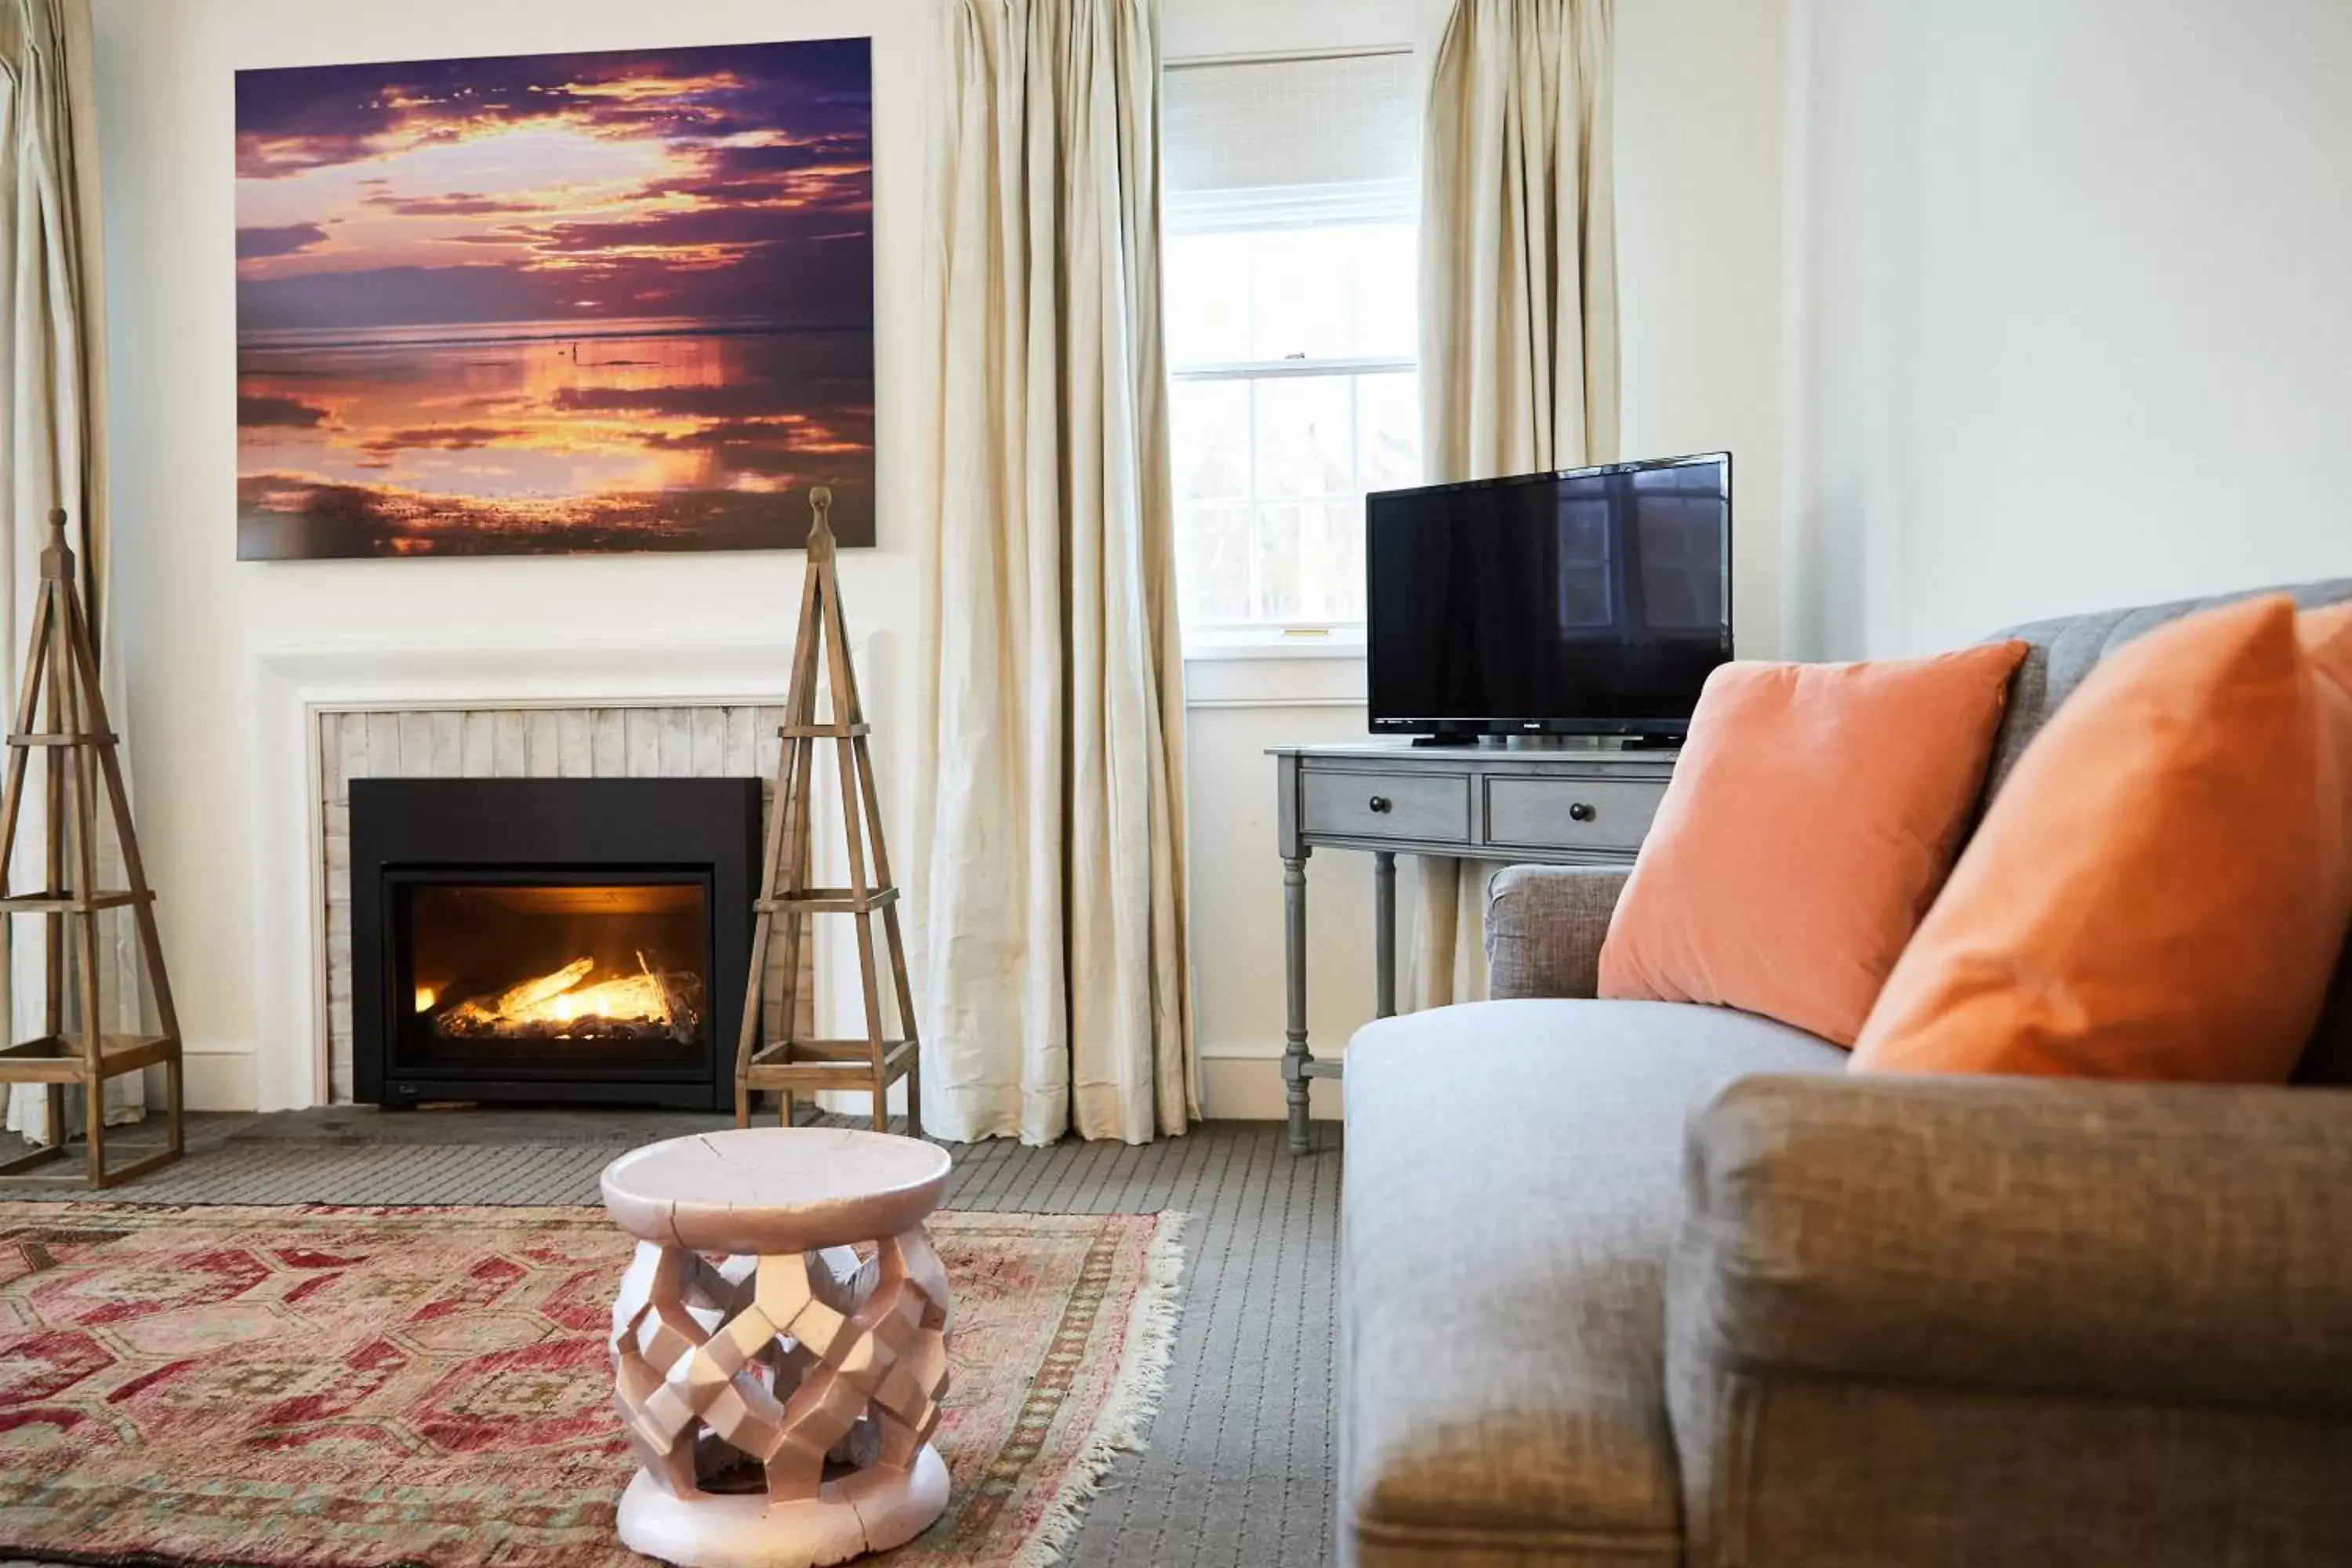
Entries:
[[[1444,0],[1164,0],[1169,56],[1416,42]],[[1780,644],[1780,0],[1630,0],[1616,12],[1623,454],[1736,454],[1736,635]],[[1341,668],[1317,668],[1338,663]],[[1242,708],[1195,705],[1200,1039],[1223,1105],[1279,1114],[1282,867],[1265,745],[1362,738],[1359,661],[1192,665]],[[1312,691],[1319,705],[1284,705]],[[1399,879],[1399,922],[1414,907]],[[1308,1034],[1336,1056],[1371,1018],[1369,856],[1308,863]],[[1399,943],[1404,938],[1399,936]],[[1263,1063],[1263,1065],[1261,1065]],[[1341,1088],[1315,1084],[1315,1112]]]

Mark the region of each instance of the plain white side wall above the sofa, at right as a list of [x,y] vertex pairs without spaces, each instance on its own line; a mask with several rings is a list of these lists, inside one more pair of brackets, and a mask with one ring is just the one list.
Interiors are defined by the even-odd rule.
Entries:
[[1797,0],[1792,644],[2352,574],[2352,5]]

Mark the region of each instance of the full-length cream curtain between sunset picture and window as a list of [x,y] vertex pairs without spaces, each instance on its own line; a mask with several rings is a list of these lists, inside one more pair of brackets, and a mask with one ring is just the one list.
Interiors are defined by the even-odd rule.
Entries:
[[[931,256],[924,1124],[1197,1114],[1150,0],[950,0]],[[927,832],[924,832],[927,830]]]

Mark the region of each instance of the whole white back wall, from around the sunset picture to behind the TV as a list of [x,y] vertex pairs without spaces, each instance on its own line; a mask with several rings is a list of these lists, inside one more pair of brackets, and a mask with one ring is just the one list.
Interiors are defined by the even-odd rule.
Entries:
[[[1442,0],[1164,0],[1167,52],[1423,38]],[[1733,447],[1745,649],[1778,637],[1780,0],[1639,0],[1618,12],[1618,202],[1628,454]],[[875,38],[880,548],[844,555],[873,637],[868,708],[913,719],[922,190],[931,0],[99,0],[113,480],[132,764],[200,1105],[252,1105],[254,658],[287,649],[783,642],[800,555],[235,559],[233,73],[442,54]],[[621,628],[621,630],[616,630]],[[517,656],[520,658],[520,656]],[[546,663],[543,654],[536,661]],[[1265,745],[1362,733],[1359,661],[1195,663],[1195,994],[1211,1114],[1279,1114],[1282,875]],[[694,693],[675,693],[694,696]],[[887,748],[901,757],[913,745]],[[913,844],[910,780],[884,813]],[[1364,856],[1310,877],[1310,1027],[1336,1051],[1371,1013]],[[1331,1084],[1317,1107],[1336,1110]],[[1324,1098],[1329,1095],[1329,1098]]]

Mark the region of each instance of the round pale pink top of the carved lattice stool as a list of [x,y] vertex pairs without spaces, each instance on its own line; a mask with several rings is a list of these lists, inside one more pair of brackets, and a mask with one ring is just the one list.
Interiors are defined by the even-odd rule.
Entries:
[[604,1213],[640,1241],[779,1255],[915,1229],[950,1164],[920,1138],[755,1126],[633,1150],[600,1185]]

